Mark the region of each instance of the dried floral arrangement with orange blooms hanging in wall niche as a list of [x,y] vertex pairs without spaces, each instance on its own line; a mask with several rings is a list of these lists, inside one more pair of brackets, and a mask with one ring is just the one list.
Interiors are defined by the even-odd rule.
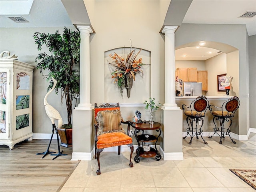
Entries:
[[[125,48],[124,48],[125,49]],[[115,67],[114,71],[111,73],[112,78],[114,78],[114,83],[117,83],[120,90],[120,94],[123,98],[123,88],[127,88],[127,96],[130,97],[130,89],[132,88],[132,82],[135,81],[135,75],[141,73],[143,77],[143,71],[141,69],[142,58],[136,60],[136,57],[140,53],[142,48],[136,54],[136,48],[130,46],[130,53],[126,56],[119,56],[116,52],[114,54],[109,54],[113,61],[108,61],[108,64]]]

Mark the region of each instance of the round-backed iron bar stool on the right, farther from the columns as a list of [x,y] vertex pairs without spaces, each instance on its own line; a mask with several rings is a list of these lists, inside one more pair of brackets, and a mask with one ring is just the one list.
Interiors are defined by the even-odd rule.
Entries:
[[[209,110],[211,114],[214,116],[213,117],[213,122],[215,126],[215,128],[213,128],[214,134],[215,133],[218,134],[218,132],[220,132],[220,134],[218,134],[220,136],[220,142],[219,142],[220,144],[222,144],[222,138],[225,138],[224,135],[229,135],[230,137],[230,126],[232,125],[231,118],[234,117],[234,114],[236,110],[239,108],[239,106],[240,106],[240,101],[237,96],[233,96],[229,98],[226,102],[222,104],[221,107],[217,107],[213,105],[209,106]],[[220,127],[216,126],[215,120],[220,122]],[[230,121],[230,125],[228,126],[228,128],[224,128],[225,121],[227,122]],[[212,136],[214,136],[214,134]],[[212,136],[208,138],[212,138]],[[230,139],[232,140],[231,137]],[[236,144],[234,140],[232,140],[232,142]]]

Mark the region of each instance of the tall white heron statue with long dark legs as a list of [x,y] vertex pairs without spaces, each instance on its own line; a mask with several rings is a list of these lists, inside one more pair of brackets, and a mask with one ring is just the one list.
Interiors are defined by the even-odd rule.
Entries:
[[[56,155],[56,157],[54,157],[52,160],[56,159],[58,156],[62,156],[62,155],[67,155],[67,154],[62,154],[63,151],[60,151],[60,142],[59,142],[59,134],[58,134],[58,130],[56,128],[56,125],[54,123],[54,120],[58,120],[58,128],[61,128],[62,126],[62,117],[60,116],[60,113],[53,107],[51,106],[48,102],[47,102],[47,97],[48,95],[54,90],[54,88],[56,87],[57,81],[52,77],[52,81],[53,81],[53,86],[51,88],[51,90],[44,96],[44,107],[45,107],[45,111],[47,116],[50,118],[51,122],[52,122],[52,136],[48,145],[48,148],[45,152],[42,153],[37,153],[37,155],[44,155],[42,158],[44,158],[46,155],[51,154],[51,155]],[[54,134],[54,130],[57,134],[57,142],[58,142],[58,154],[52,154],[55,152],[50,152],[49,148],[52,142],[52,137]]]

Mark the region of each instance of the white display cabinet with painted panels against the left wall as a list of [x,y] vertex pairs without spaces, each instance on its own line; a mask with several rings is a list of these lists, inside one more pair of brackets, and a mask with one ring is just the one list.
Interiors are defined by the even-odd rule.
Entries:
[[10,150],[32,140],[33,68],[13,59],[0,60],[0,145]]

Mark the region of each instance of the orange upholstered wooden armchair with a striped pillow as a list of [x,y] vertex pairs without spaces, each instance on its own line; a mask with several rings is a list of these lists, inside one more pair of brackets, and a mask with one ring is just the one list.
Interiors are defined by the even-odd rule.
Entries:
[[[119,103],[117,105],[94,104],[94,127],[95,127],[95,158],[98,161],[97,174],[100,175],[100,153],[107,147],[118,146],[120,155],[121,145],[128,145],[131,149],[130,167],[133,167],[132,152],[133,144],[130,137],[130,121],[123,121]],[[122,123],[127,124],[127,134],[122,128]]]

